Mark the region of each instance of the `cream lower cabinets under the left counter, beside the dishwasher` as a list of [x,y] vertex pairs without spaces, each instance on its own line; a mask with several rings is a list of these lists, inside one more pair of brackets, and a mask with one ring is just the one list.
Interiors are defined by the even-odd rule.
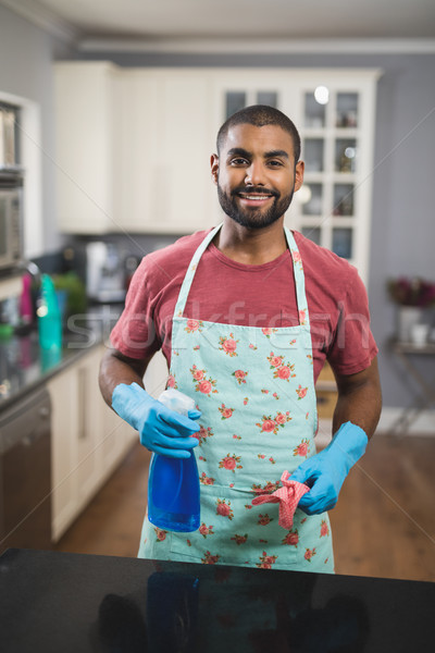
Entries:
[[52,539],[58,541],[136,440],[103,402],[98,369],[103,346],[49,380],[52,403]]

